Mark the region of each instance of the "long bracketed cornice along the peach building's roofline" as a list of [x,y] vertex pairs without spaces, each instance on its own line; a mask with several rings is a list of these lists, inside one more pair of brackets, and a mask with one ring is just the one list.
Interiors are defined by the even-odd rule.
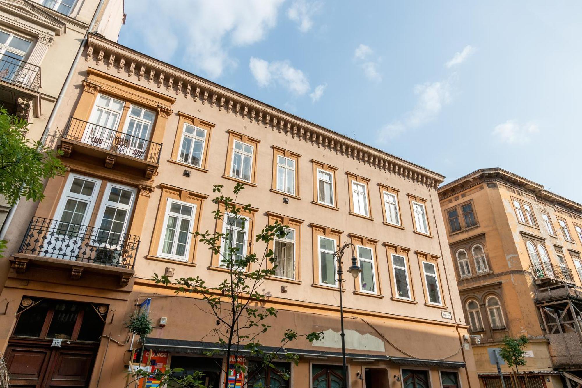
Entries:
[[208,104],[212,108],[224,111],[225,114],[233,114],[251,123],[264,126],[265,129],[270,128],[297,140],[335,151],[336,154],[353,158],[370,167],[399,175],[429,188],[436,189],[444,179],[436,172],[253,100],[95,34],[88,36],[85,59],[95,61],[97,66],[105,64],[110,69],[117,68],[118,73],[123,73],[127,77],[136,76],[138,80],[145,79],[148,84],[155,85],[159,89],[164,88],[166,92],[175,93],[176,96],[181,95],[196,103]]

